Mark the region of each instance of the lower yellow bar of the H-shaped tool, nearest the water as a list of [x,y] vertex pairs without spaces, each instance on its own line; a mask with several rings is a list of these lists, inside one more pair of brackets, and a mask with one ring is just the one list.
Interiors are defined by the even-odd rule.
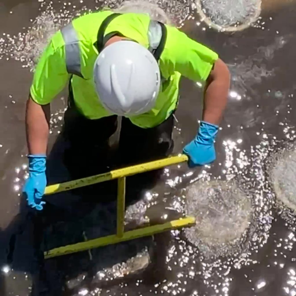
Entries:
[[86,251],[92,248],[106,246],[108,244],[117,244],[118,242],[124,242],[127,240],[136,239],[139,237],[146,237],[152,234],[163,232],[165,230],[177,229],[184,226],[190,226],[190,225],[193,225],[194,223],[195,223],[195,219],[193,217],[186,217],[179,220],[173,220],[164,224],[157,224],[153,226],[148,226],[144,228],[127,231],[123,234],[122,237],[118,237],[116,234],[113,234],[113,235],[108,235],[106,237],[91,239],[86,242],[79,242],[77,244],[55,248],[48,252],[44,252],[44,257],[47,259],[47,258],[71,254],[75,252]]

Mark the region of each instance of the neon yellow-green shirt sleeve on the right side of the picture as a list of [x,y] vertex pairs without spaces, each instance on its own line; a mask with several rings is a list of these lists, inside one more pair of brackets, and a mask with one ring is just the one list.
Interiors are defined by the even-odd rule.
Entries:
[[161,61],[168,70],[167,75],[179,72],[193,81],[205,81],[218,59],[218,54],[177,28],[166,27],[167,41]]

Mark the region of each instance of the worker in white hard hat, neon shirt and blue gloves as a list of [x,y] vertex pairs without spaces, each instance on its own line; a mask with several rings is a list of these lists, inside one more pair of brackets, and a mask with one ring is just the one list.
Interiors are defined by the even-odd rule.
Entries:
[[38,61],[27,101],[29,177],[23,192],[28,205],[44,208],[50,103],[67,82],[64,131],[74,149],[68,163],[95,169],[95,156],[115,133],[118,116],[119,148],[135,161],[172,152],[182,75],[205,86],[202,120],[183,152],[190,167],[210,164],[230,83],[217,53],[141,13],[93,12],[55,33]]

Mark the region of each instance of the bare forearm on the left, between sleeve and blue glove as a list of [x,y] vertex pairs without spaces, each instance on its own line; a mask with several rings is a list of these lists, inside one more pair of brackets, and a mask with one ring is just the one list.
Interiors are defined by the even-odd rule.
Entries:
[[26,135],[29,154],[46,154],[50,105],[41,106],[29,96],[26,108]]

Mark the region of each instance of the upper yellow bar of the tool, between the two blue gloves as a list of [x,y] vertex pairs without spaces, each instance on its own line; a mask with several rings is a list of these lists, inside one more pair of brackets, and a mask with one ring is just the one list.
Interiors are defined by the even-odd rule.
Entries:
[[58,193],[58,192],[67,191],[67,190],[71,190],[71,189],[75,189],[75,188],[79,188],[87,185],[101,183],[104,181],[132,176],[138,173],[143,173],[150,170],[156,170],[158,168],[163,168],[165,166],[174,165],[177,163],[183,163],[186,161],[188,161],[188,156],[184,154],[167,157],[164,159],[151,161],[149,163],[142,163],[140,165],[133,165],[126,168],[120,168],[118,170],[112,170],[110,172],[91,176],[91,177],[68,181],[65,183],[49,185],[45,188],[44,194]]

